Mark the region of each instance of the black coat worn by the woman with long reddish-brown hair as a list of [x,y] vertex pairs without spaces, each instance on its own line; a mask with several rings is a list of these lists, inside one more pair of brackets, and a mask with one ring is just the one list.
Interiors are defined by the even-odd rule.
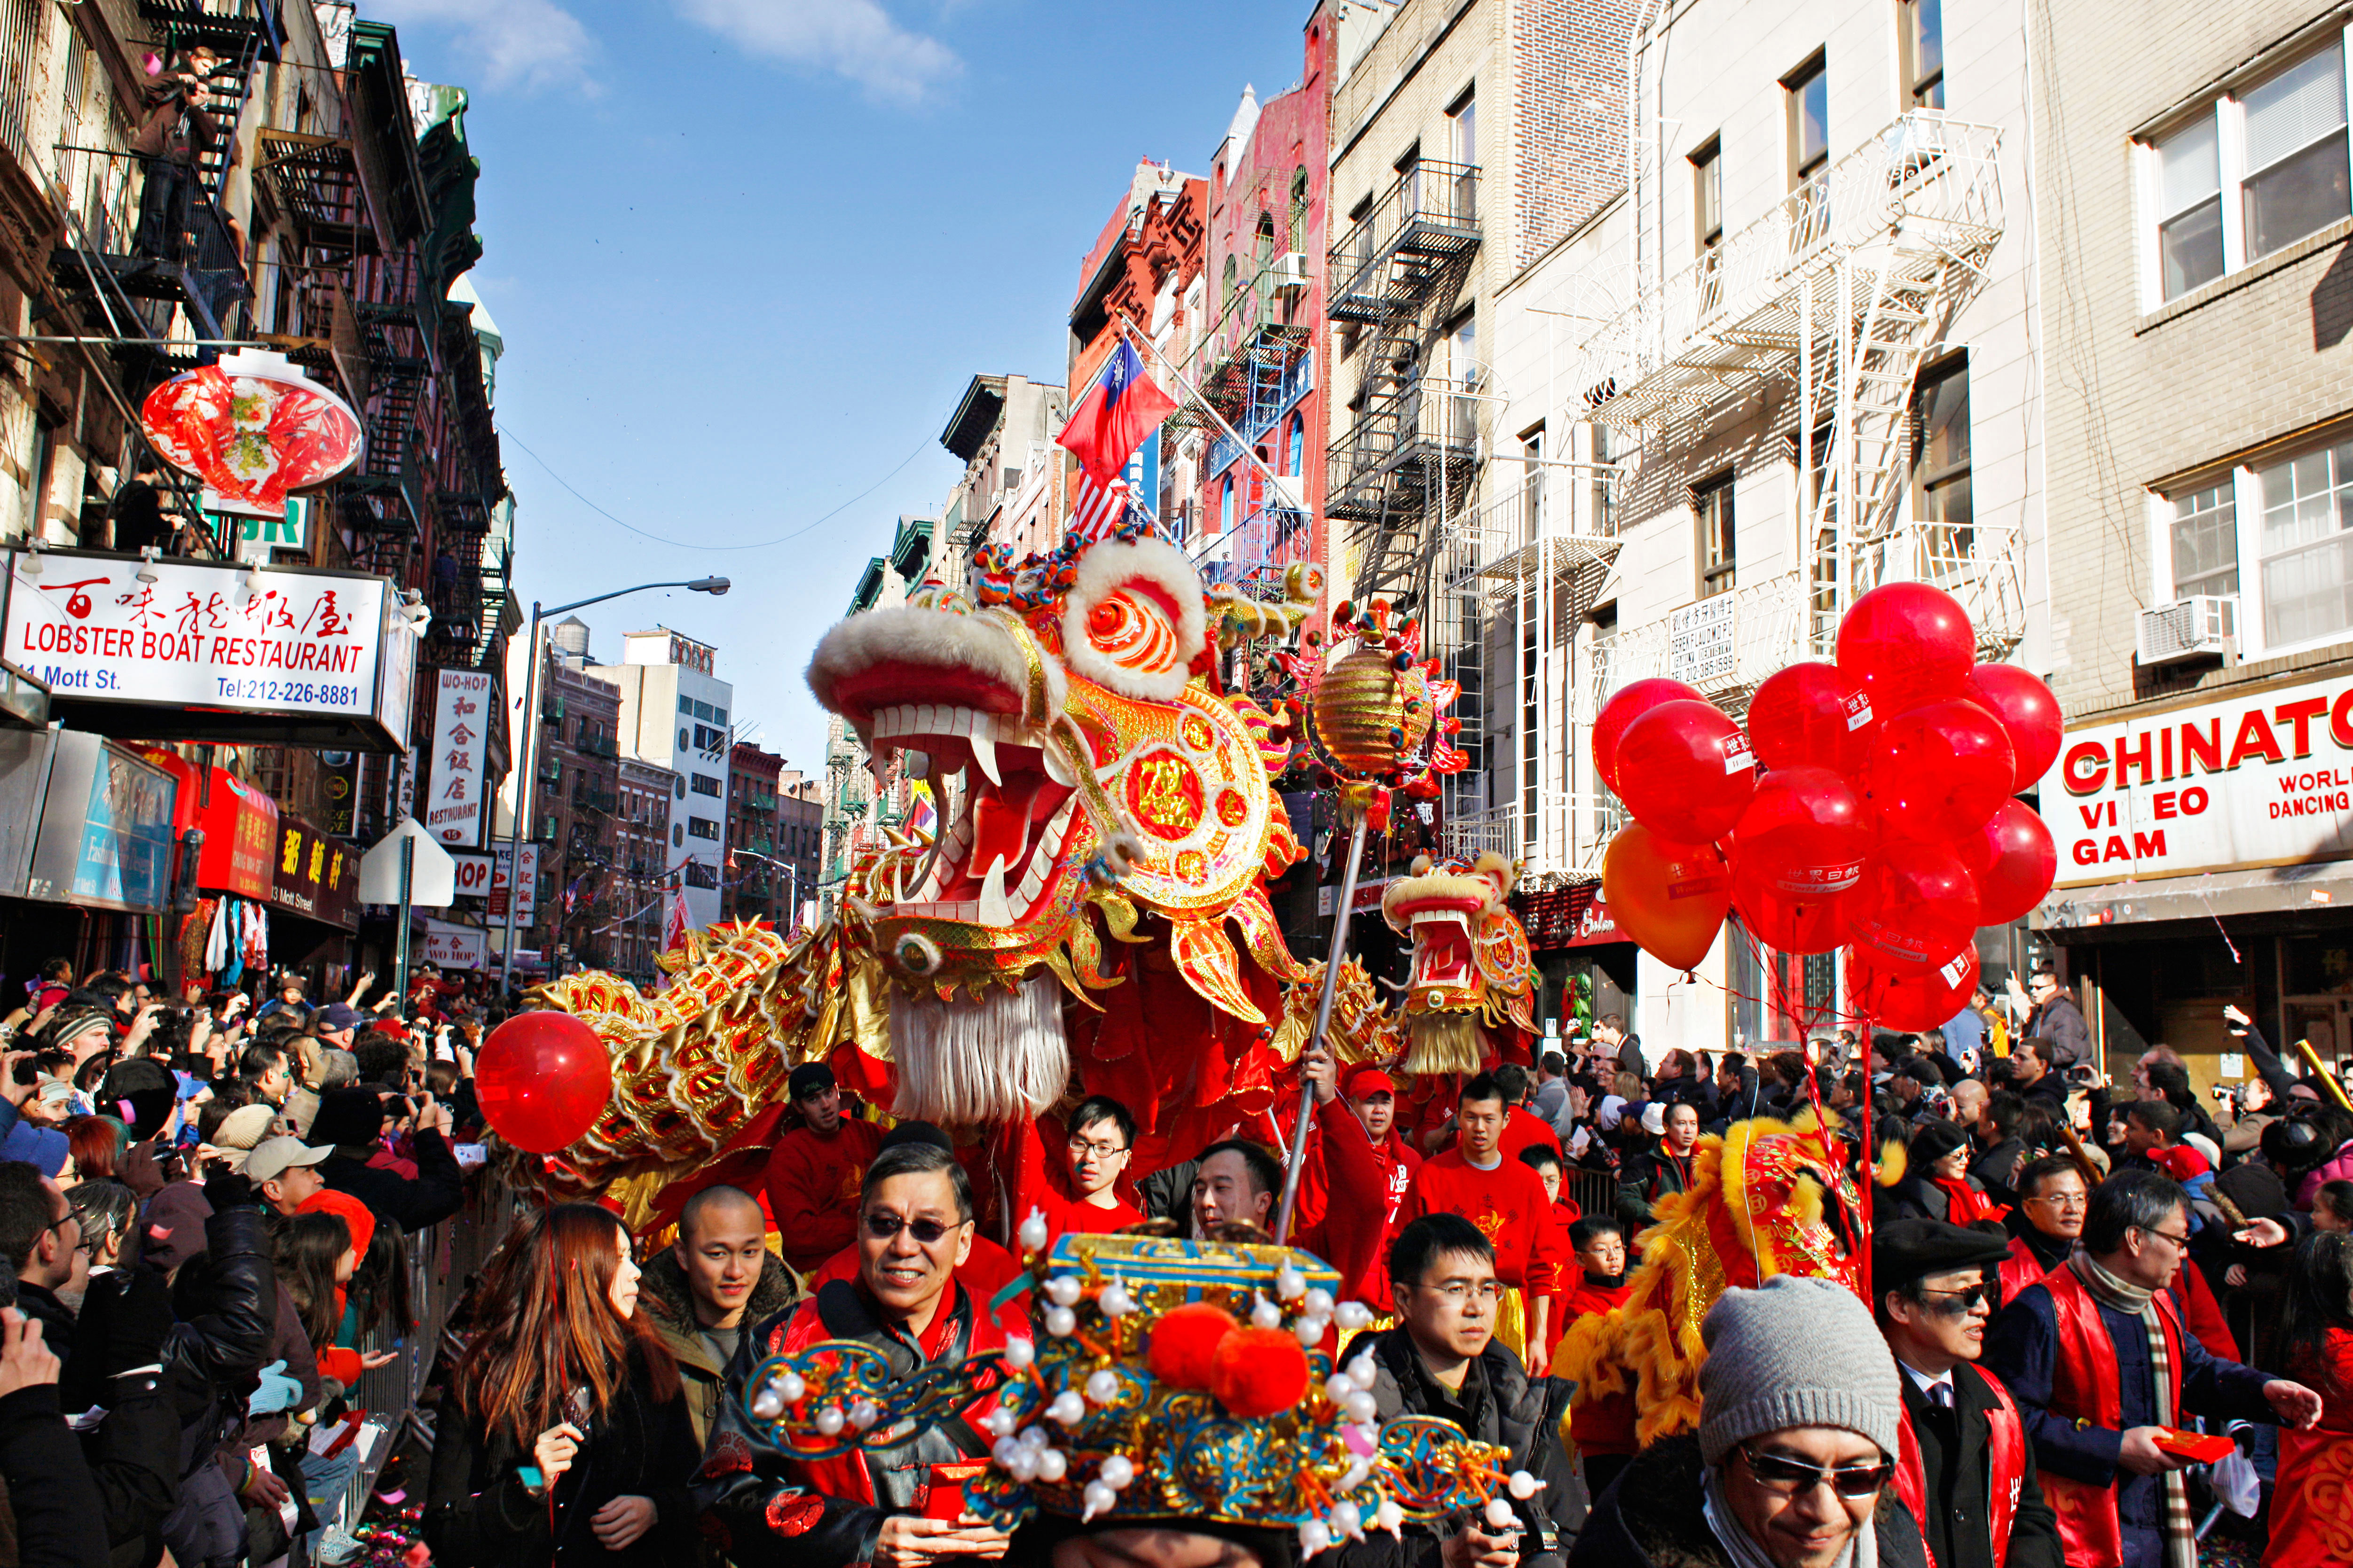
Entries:
[[[518,1568],[553,1556],[558,1568],[694,1568],[701,1535],[687,1481],[701,1448],[685,1394],[656,1401],[649,1389],[645,1352],[631,1347],[628,1378],[612,1406],[588,1422],[588,1441],[555,1481],[553,1509],[515,1474],[532,1462],[532,1446],[511,1432],[485,1432],[456,1394],[445,1396],[426,1481],[424,1530],[433,1561],[440,1568]],[[591,1528],[614,1497],[654,1500],[654,1523],[621,1552],[598,1544]]]

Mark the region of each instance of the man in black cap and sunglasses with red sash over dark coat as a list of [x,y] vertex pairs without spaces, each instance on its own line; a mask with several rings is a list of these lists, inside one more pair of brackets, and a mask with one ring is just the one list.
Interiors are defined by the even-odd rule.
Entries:
[[1937,1568],[2064,1568],[2009,1389],[1977,1366],[2009,1255],[2000,1237],[1894,1220],[1871,1239],[1880,1335],[1904,1373],[1894,1488]]

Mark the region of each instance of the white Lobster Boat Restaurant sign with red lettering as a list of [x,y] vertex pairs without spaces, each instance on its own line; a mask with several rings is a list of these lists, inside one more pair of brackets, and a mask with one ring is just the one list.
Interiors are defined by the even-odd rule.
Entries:
[[384,595],[372,576],[16,555],[7,658],[59,696],[365,717]]

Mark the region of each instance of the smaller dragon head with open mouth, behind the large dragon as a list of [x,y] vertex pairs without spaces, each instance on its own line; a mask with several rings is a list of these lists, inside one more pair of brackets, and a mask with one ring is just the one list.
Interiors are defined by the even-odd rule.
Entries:
[[1381,917],[1414,943],[1405,987],[1405,1072],[1478,1072],[1478,1027],[1534,1030],[1527,931],[1504,903],[1518,870],[1499,853],[1414,860],[1388,884]]

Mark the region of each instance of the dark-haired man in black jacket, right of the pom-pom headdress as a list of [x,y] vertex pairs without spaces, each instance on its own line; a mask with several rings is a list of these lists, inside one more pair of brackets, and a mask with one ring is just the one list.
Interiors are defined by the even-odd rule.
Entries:
[[[1513,1502],[1513,1523],[1480,1516],[1407,1523],[1398,1537],[1365,1535],[1327,1568],[1558,1568],[1562,1542],[1586,1512],[1586,1493],[1560,1448],[1560,1418],[1574,1385],[1529,1378],[1520,1359],[1494,1342],[1494,1248],[1478,1225],[1452,1213],[1409,1222],[1388,1246],[1391,1302],[1398,1326],[1348,1342],[1339,1363],[1372,1354],[1381,1420],[1435,1415],[1482,1443],[1511,1450],[1504,1469],[1525,1469],[1544,1490]],[[1402,1559],[1400,1559],[1402,1554]]]

